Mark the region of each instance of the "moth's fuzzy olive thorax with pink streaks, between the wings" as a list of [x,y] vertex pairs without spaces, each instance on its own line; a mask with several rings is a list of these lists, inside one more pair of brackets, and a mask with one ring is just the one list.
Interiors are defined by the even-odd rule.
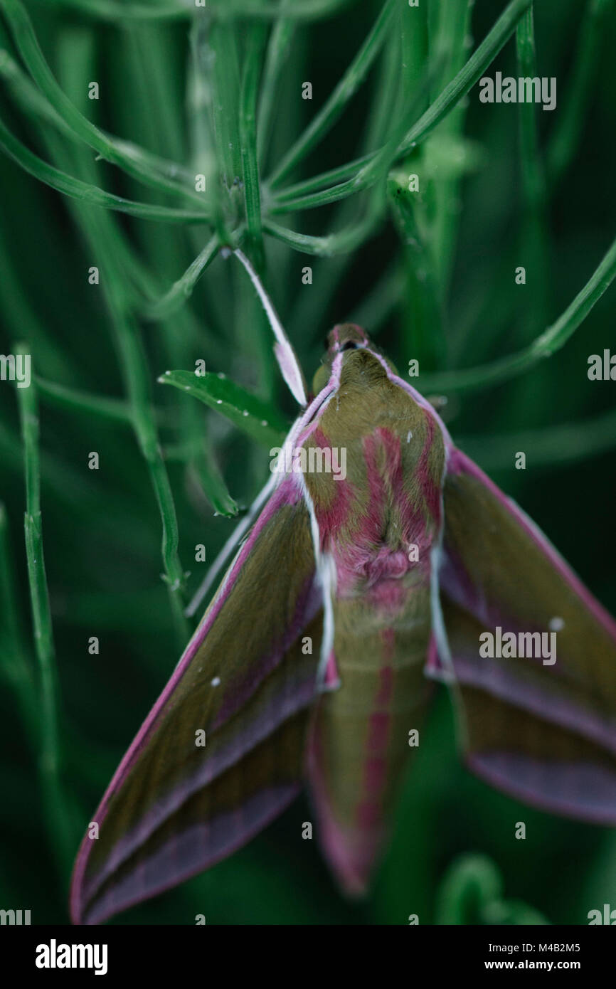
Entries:
[[[409,585],[425,583],[440,528],[445,449],[434,418],[390,379],[378,356],[349,349],[339,386],[303,445],[306,486],[321,547],[336,564],[338,594],[368,593],[396,610]],[[329,472],[314,469],[323,462]]]

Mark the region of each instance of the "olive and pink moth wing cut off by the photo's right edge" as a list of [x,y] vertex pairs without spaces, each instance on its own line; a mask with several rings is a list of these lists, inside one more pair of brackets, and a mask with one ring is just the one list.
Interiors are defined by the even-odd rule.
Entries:
[[444,512],[431,672],[455,681],[470,766],[527,802],[616,822],[614,621],[455,448]]

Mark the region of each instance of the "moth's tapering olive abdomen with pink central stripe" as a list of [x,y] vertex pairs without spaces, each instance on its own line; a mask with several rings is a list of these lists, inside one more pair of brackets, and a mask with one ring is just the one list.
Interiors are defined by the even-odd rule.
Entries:
[[336,602],[334,651],[341,687],[319,701],[308,747],[319,838],[351,893],[365,888],[385,844],[411,753],[409,733],[420,727],[430,690],[423,675],[429,584],[384,583],[405,590],[405,606],[389,624],[364,597]]

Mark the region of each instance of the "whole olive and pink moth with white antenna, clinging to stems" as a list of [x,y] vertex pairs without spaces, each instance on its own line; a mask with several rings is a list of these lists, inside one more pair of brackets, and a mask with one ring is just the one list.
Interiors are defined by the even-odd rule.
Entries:
[[[359,326],[331,331],[307,402],[240,260],[304,408],[93,817],[98,837],[83,839],[75,923],[232,854],[302,787],[334,876],[361,894],[434,680],[473,771],[554,813],[616,822],[616,623]],[[310,449],[345,450],[345,476],[306,469]],[[487,633],[502,655],[486,655]]]

